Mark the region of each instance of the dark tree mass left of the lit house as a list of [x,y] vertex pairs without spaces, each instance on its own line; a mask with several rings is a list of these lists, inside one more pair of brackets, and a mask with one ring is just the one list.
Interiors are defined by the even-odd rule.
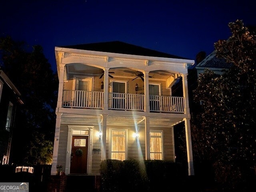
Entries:
[[21,92],[24,102],[16,112],[12,162],[47,163],[55,129],[57,75],[39,45],[31,47],[10,36],[1,37],[0,56],[1,68]]

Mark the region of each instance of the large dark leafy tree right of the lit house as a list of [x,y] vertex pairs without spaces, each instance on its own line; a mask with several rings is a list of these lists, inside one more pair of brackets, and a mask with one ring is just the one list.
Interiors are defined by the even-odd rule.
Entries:
[[256,176],[256,35],[242,20],[228,26],[232,35],[214,47],[217,58],[233,67],[221,76],[206,70],[198,77],[194,96],[201,105],[192,133],[216,181],[226,190],[246,191]]

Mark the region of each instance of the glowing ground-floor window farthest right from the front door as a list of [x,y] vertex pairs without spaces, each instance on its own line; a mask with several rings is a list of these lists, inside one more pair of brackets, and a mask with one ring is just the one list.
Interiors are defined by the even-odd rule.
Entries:
[[150,159],[163,160],[162,131],[150,131]]

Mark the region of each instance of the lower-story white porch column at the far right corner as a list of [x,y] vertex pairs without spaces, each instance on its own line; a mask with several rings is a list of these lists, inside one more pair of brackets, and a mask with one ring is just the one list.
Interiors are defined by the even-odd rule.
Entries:
[[186,146],[187,146],[187,156],[188,156],[188,175],[194,175],[192,142],[191,142],[191,133],[190,133],[190,119],[184,118],[183,120],[185,122],[185,132],[186,132]]

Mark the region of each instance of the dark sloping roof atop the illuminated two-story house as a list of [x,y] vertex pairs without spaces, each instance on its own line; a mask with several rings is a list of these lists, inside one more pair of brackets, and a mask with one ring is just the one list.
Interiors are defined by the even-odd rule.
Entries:
[[129,55],[188,59],[188,58],[175,56],[172,54],[159,52],[159,51],[151,50],[148,48],[143,48],[140,46],[136,46],[133,44],[128,44],[128,43],[120,42],[120,41],[78,44],[78,45],[60,46],[60,47],[79,49],[79,50],[90,50],[90,51],[110,52],[110,53],[119,53],[119,54],[129,54]]

